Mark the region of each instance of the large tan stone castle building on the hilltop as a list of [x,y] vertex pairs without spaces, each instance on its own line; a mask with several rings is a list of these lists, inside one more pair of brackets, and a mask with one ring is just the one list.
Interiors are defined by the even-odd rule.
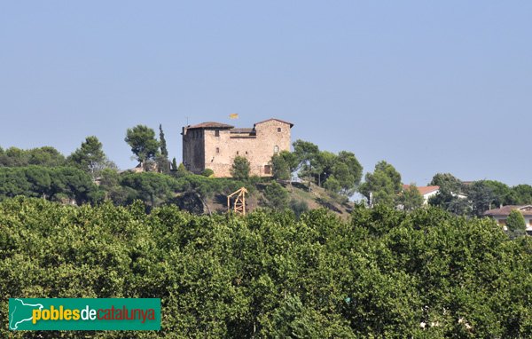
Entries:
[[220,122],[202,122],[183,128],[183,163],[193,173],[212,169],[215,177],[231,177],[236,156],[250,162],[250,174],[271,176],[271,157],[290,151],[293,123],[269,119],[254,123],[253,128],[239,129]]

